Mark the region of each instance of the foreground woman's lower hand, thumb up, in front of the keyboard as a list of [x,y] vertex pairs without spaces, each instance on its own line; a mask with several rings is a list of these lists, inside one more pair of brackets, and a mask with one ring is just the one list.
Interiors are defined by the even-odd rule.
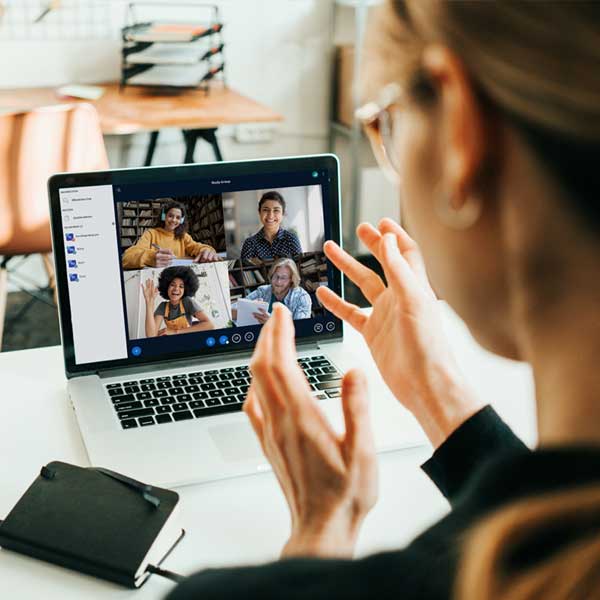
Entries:
[[269,459],[292,518],[283,556],[351,556],[377,500],[377,463],[367,384],[344,376],[346,432],[336,434],[311,396],[296,361],[294,324],[280,304],[263,327],[244,411]]

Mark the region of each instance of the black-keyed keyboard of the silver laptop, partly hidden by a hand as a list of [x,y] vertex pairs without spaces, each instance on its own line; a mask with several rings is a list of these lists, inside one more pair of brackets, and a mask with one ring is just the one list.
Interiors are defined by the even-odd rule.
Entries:
[[[313,395],[341,396],[342,374],[325,356],[298,359]],[[123,429],[186,421],[242,410],[250,388],[248,365],[144,377],[109,383],[105,389]]]

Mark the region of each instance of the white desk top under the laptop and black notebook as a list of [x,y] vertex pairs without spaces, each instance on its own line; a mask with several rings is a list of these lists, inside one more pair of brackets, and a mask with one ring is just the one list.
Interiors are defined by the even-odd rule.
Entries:
[[[473,386],[527,442],[535,441],[533,389],[528,367],[482,351],[446,310],[446,329]],[[352,344],[360,336],[347,328]],[[370,356],[368,351],[365,357]],[[380,500],[367,518],[359,555],[398,548],[435,522],[448,506],[418,468],[427,447],[379,456]],[[60,347],[0,355],[0,518],[51,460],[88,465],[67,401]],[[151,482],[150,482],[151,483]],[[206,566],[277,558],[289,531],[288,512],[271,473],[180,488],[186,537],[165,568],[191,573]],[[122,589],[0,550],[0,598],[162,598],[173,586],[151,577],[141,590]],[[135,595],[135,596],[134,596]]]

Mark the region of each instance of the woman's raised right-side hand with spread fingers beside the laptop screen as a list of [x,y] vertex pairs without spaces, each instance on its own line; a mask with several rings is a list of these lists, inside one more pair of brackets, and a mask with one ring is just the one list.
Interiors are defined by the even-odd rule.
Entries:
[[484,403],[468,389],[454,361],[416,243],[391,219],[383,219],[378,229],[363,223],[357,234],[383,267],[387,286],[334,242],[324,249],[372,304],[371,314],[326,287],[317,295],[362,333],[388,387],[437,447]]

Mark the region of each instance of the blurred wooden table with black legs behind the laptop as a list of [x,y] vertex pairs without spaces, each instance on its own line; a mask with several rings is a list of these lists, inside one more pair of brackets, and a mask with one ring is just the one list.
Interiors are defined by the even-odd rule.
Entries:
[[[100,115],[102,132],[127,135],[149,132],[150,142],[144,165],[152,163],[160,129],[181,129],[185,141],[184,162],[194,161],[198,139],[208,142],[217,160],[223,160],[216,131],[221,125],[281,121],[270,108],[238,94],[222,84],[211,86],[209,93],[185,90],[173,93],[149,88],[125,87],[118,83],[100,84],[104,95],[91,102]],[[61,98],[55,88],[0,89],[0,110],[27,110],[40,106],[77,102]]]

